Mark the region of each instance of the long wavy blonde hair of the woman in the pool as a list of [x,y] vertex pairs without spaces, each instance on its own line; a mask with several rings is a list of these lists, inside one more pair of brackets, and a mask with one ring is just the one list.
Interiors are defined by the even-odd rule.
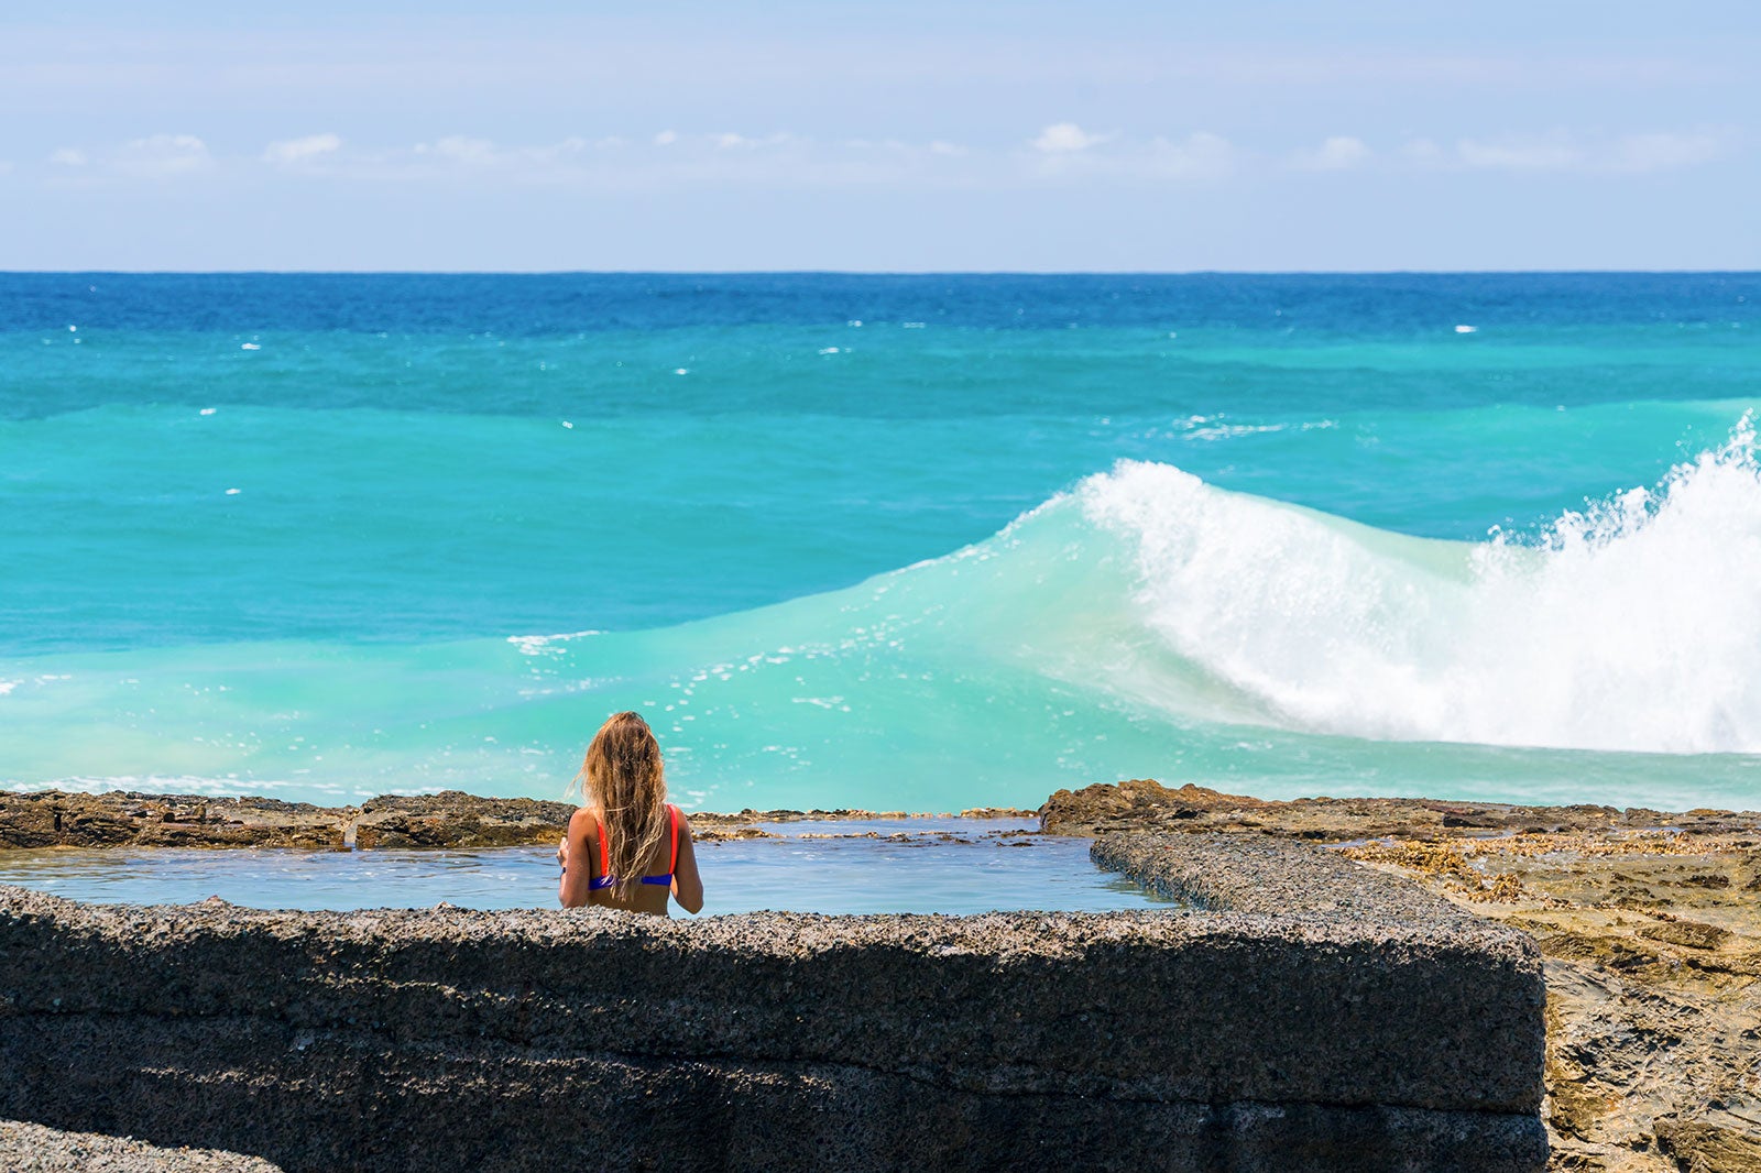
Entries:
[[574,780],[586,801],[604,814],[599,833],[606,838],[608,874],[616,877],[618,900],[629,900],[671,826],[660,743],[641,713],[608,717]]

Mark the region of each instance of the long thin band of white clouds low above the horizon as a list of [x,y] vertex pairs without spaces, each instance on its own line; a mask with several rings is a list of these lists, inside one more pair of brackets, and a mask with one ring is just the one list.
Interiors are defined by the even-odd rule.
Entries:
[[[1097,150],[1104,144],[1104,150]],[[1030,183],[1203,183],[1231,176],[1273,181],[1278,171],[1525,173],[1615,176],[1701,166],[1740,144],[1733,129],[1588,136],[1553,130],[1534,136],[1477,136],[1439,144],[1409,139],[1372,150],[1354,136],[1331,136],[1303,150],[1271,153],[1238,146],[1220,134],[1131,137],[1094,134],[1078,123],[1051,123],[1027,144],[962,144],[947,139],[805,137],[791,132],[678,132],[646,137],[581,137],[505,144],[446,136],[402,148],[363,148],[336,134],[268,143],[257,159],[328,181],[562,185],[581,190],[666,190],[687,183],[759,188],[822,187],[993,187]],[[190,134],[157,134],[122,146],[63,146],[39,162],[51,183],[93,185],[122,178],[169,176],[245,164],[215,157]]]

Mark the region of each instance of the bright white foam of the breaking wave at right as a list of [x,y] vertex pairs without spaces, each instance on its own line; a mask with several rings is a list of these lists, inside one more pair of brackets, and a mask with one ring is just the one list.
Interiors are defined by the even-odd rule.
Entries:
[[1122,463],[1078,491],[1139,620],[1268,724],[1761,752],[1761,467],[1731,442],[1518,541],[1435,542]]

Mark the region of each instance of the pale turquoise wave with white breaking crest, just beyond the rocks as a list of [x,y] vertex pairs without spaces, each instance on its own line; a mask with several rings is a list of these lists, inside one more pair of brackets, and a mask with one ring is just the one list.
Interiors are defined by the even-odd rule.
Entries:
[[636,706],[708,808],[1032,805],[1125,775],[1754,805],[1756,583],[1749,417],[1655,486],[1483,542],[1122,461],[979,544],[673,627],[14,657],[0,705],[32,736],[0,778],[551,793]]

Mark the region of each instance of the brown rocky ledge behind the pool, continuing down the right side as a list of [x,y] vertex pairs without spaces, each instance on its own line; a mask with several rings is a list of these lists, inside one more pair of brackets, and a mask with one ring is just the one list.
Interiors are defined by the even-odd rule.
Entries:
[[[553,842],[572,808],[460,793],[321,808],[257,798],[0,794],[0,849],[46,845],[477,847]],[[1101,835],[1102,861],[1205,902],[1136,859],[1194,831],[1333,844],[1541,946],[1553,1169],[1761,1171],[1761,815],[1423,798],[1270,801],[1153,780],[1058,791],[1044,831]],[[900,812],[694,814],[703,838],[798,819]],[[1108,838],[1111,835],[1120,838]],[[1213,877],[1224,882],[1222,877]],[[1337,879],[1337,877],[1335,877]],[[1312,889],[1324,889],[1314,884]],[[1250,904],[1254,884],[1238,886]],[[1264,889],[1275,907],[1287,893]],[[1238,905],[1242,907],[1242,905]]]

